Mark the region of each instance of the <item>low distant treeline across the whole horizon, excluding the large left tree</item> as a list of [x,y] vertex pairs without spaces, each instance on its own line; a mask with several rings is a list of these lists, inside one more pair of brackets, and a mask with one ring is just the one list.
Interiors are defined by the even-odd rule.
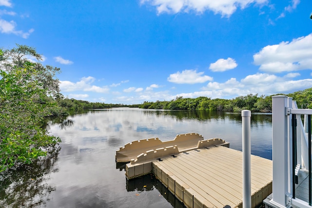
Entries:
[[[276,94],[277,95],[277,94]],[[296,101],[298,108],[312,108],[312,88],[296,91],[289,94],[278,94],[292,97]],[[69,99],[62,97],[57,100],[60,107],[67,110],[100,109],[112,107],[138,107],[144,109],[167,109],[167,110],[211,110],[239,112],[251,110],[252,112],[272,112],[272,96],[258,96],[258,94],[248,94],[233,99],[211,99],[209,97],[183,98],[176,97],[171,101],[156,101],[142,104],[105,104],[92,103],[88,101]]]

